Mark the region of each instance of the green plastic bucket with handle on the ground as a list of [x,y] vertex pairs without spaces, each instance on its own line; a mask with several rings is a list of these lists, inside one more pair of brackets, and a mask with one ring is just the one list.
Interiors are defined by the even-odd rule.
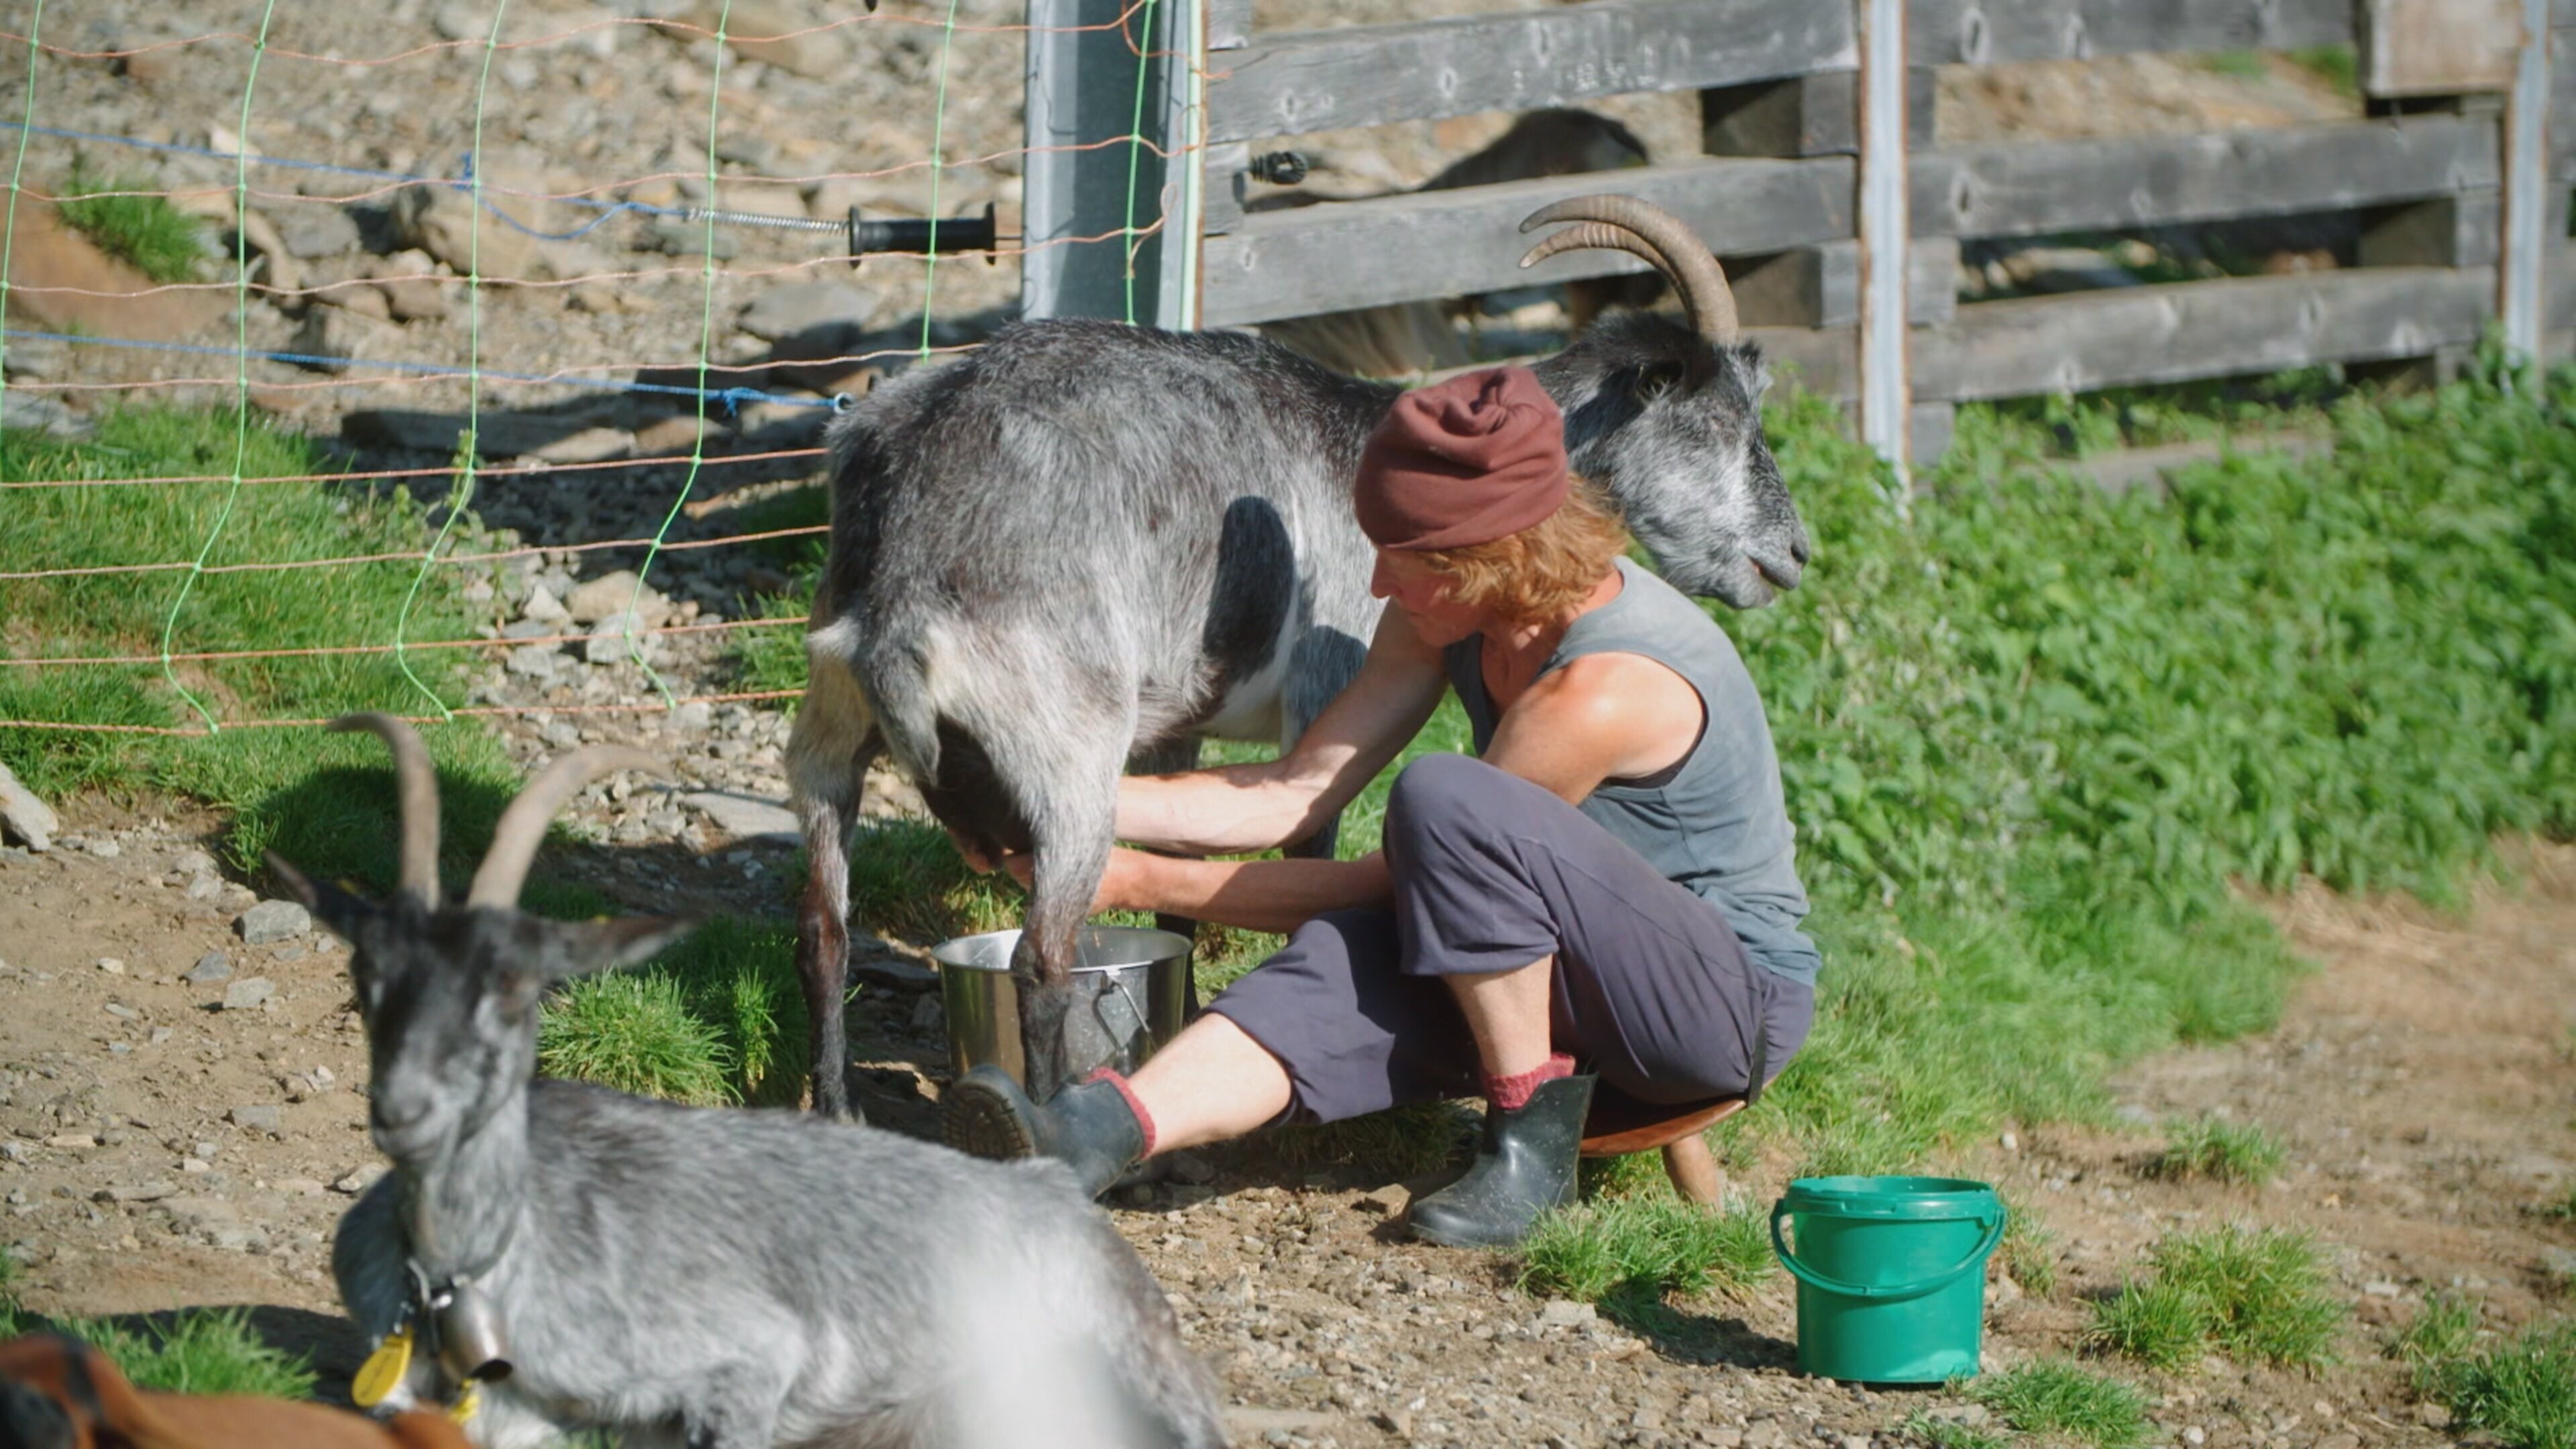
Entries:
[[[1780,1227],[1795,1225],[1795,1248]],[[1772,1248],[1798,1279],[1798,1366],[1924,1385],[1976,1374],[2004,1201],[1965,1178],[1798,1178]]]

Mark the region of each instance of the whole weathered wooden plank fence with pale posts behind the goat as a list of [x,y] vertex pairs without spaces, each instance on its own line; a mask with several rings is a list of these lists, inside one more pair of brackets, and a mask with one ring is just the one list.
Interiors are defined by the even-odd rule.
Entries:
[[[1873,394],[1909,400],[1899,433],[1917,454],[1945,443],[1947,410],[1965,400],[2308,364],[2455,366],[2506,315],[2499,289],[2512,286],[2517,245],[2537,245],[2543,281],[2527,297],[2543,299],[2543,351],[2566,356],[2576,340],[2576,0],[1875,5],[1904,13],[1901,49],[1878,52],[1891,72],[1906,67],[1904,126],[1880,137],[1904,150],[1891,206],[1914,240],[1899,266],[1906,345],[1868,364],[1857,111],[1873,0],[1589,0],[1301,34],[1257,31],[1249,0],[1206,0],[1193,315],[1249,325],[1638,271],[1618,253],[1517,266],[1520,217],[1600,188],[1597,175],[1249,214],[1242,175],[1255,152],[1316,129],[1695,90],[1710,155],[1623,170],[1615,186],[1680,214],[1728,260],[1752,335],[1808,387],[1850,400],[1873,392],[1868,369],[1899,369],[1896,387]],[[2527,15],[2545,26],[2532,34]],[[2517,193],[2530,183],[2509,152],[2506,93],[2524,44],[2545,46],[2537,196]],[[2365,119],[1973,144],[1942,144],[1932,129],[1942,64],[2306,46],[2357,46],[2365,83],[2380,88]],[[2543,224],[2517,232],[2514,206],[2537,206]],[[2357,266],[1958,299],[1960,245],[2303,214],[2352,214]]]

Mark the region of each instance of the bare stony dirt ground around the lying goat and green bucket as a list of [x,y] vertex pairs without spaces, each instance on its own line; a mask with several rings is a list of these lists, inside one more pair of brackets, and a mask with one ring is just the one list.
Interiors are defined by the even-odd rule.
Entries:
[[[206,817],[80,799],[64,815],[82,848],[0,851],[0,1240],[28,1302],[82,1315],[255,1305],[265,1333],[312,1351],[327,1379],[348,1374],[361,1346],[335,1312],[327,1235],[376,1155],[345,951],[317,933],[247,946],[232,923],[250,892],[198,884]],[[2141,1124],[2259,1122],[2287,1145],[2280,1183],[2151,1178],[2148,1127],[2025,1127],[1950,1163],[2061,1235],[2053,1297],[1994,1281],[1986,1364],[2074,1351],[2084,1297],[2172,1227],[2295,1225],[2329,1245],[2336,1294],[2354,1305],[2344,1361],[2313,1377],[2215,1361],[2146,1377],[2164,1431],[2200,1428],[2221,1449],[2445,1441],[2416,1418],[2385,1338],[2434,1289],[2478,1294],[2506,1320],[2563,1310],[2543,1263],[2576,1245],[2571,1225],[2530,1212],[2563,1196],[2576,1165],[2576,848],[2509,859],[2522,884],[2478,890],[2458,918],[2321,890],[2275,902],[2321,962],[2285,1024],[2120,1078]],[[209,951],[229,977],[188,980]],[[247,980],[270,995],[227,1011],[227,995],[255,995],[237,993]],[[935,1024],[876,990],[855,1021],[858,1057],[884,1067],[871,1114],[930,1132]],[[1767,1199],[1777,1178],[1739,1189]],[[1520,1294],[1502,1258],[1404,1243],[1383,1189],[1283,1181],[1247,1160],[1206,1186],[1123,1189],[1113,1207],[1224,1372],[1242,1441],[1770,1449],[1893,1441],[1911,1410],[1945,1400],[1801,1379],[1783,1279],[1623,1325]]]

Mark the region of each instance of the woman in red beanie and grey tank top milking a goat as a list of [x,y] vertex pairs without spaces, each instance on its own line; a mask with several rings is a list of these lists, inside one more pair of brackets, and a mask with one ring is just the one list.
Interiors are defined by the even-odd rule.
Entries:
[[[1358,681],[1273,763],[1121,781],[1118,838],[1139,848],[1095,900],[1288,946],[1133,1078],[1041,1106],[997,1067],[966,1073],[948,1134],[1061,1158],[1100,1191],[1154,1152],[1481,1093],[1476,1163],[1412,1227],[1515,1243],[1571,1201],[1595,1091],[1664,1114],[1757,1096],[1806,1042],[1816,949],[1780,766],[1734,642],[1623,557],[1530,371],[1399,397],[1352,498],[1391,603]],[[1311,833],[1445,688],[1479,755],[1406,766],[1378,853],[1180,859]]]

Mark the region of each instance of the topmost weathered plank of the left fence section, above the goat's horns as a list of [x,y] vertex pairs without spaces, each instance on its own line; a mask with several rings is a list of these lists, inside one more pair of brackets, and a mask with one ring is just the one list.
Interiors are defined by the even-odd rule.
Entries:
[[1533,111],[1850,70],[1850,5],[1592,0],[1515,15],[1255,36],[1208,83],[1208,139]]

